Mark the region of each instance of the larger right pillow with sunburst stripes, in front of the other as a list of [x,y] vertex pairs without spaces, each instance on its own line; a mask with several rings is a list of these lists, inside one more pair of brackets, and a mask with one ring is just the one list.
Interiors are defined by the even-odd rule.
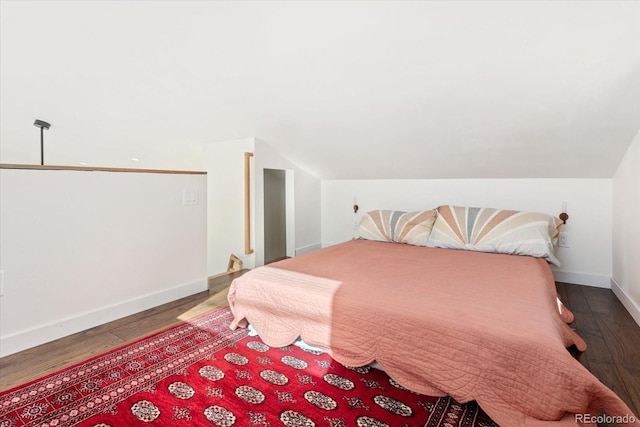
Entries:
[[560,265],[553,244],[562,220],[536,212],[438,207],[427,246],[544,258]]

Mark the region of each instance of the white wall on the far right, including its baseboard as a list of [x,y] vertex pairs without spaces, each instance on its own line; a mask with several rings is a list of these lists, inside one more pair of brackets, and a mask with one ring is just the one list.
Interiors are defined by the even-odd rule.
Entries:
[[640,325],[640,132],[613,177],[612,288]]

